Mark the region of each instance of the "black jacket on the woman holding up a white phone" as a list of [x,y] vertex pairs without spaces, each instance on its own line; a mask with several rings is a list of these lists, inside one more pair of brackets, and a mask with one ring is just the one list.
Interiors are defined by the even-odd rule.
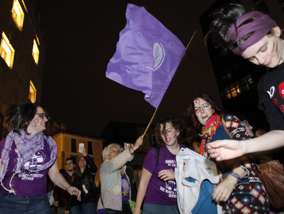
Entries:
[[[97,166],[89,155],[85,156],[86,162],[89,167],[86,168],[85,172],[80,177],[75,177],[72,186],[76,186],[81,190],[81,201],[77,200],[77,196],[73,195],[69,197],[69,201],[66,210],[70,211],[70,208],[80,204],[86,204],[95,202],[95,197],[97,193],[96,184],[94,182],[95,175],[97,174]],[[79,167],[79,166],[77,166]],[[86,190],[83,189],[83,185]]]

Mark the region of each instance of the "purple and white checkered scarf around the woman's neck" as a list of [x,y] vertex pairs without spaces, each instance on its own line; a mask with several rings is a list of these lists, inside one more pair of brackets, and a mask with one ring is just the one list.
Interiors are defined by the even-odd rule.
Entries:
[[[41,167],[37,168],[35,171],[30,171],[29,169],[26,169],[30,172],[41,172],[48,167],[50,167],[54,161],[56,160],[57,156],[57,146],[56,142],[52,139],[52,137],[48,136],[46,137],[43,132],[38,133],[37,135],[28,135],[24,130],[20,131],[20,134],[17,134],[17,132],[14,132],[13,130],[9,132],[9,134],[6,137],[5,146],[1,153],[1,172],[0,172],[0,182],[2,183],[2,180],[4,179],[10,159],[10,150],[13,141],[16,144],[17,150],[18,150],[18,162],[15,174],[21,170],[21,168],[24,167],[24,164],[31,158],[33,155],[41,149],[41,147],[44,144],[44,139],[48,142],[48,145],[51,149],[51,157],[50,161]],[[14,174],[14,175],[15,175]],[[12,177],[13,178],[13,177]],[[11,180],[12,180],[11,178]]]

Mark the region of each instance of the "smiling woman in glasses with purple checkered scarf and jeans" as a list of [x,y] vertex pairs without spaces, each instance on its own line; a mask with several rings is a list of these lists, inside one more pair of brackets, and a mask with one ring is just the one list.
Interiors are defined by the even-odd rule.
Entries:
[[6,123],[11,130],[0,142],[0,210],[3,213],[51,213],[46,176],[80,199],[81,192],[59,173],[53,122],[37,103],[11,105]]

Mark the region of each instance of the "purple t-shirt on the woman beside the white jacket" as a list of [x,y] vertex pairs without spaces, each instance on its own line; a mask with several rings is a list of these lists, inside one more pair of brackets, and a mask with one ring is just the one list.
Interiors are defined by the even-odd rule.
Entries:
[[[186,148],[186,146],[180,144],[180,148]],[[158,172],[163,169],[175,172],[176,155],[172,154],[167,146],[162,146],[159,152],[160,159],[156,166],[156,154],[155,148],[150,149],[143,164],[143,167],[153,174],[147,187],[144,203],[175,206],[177,205],[176,183],[159,179]]]

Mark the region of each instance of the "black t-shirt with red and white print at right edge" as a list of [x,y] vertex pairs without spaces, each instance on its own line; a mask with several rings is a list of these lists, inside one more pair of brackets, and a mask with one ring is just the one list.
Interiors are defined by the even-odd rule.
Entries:
[[284,130],[284,63],[265,73],[257,90],[258,107],[264,110],[270,130]]

